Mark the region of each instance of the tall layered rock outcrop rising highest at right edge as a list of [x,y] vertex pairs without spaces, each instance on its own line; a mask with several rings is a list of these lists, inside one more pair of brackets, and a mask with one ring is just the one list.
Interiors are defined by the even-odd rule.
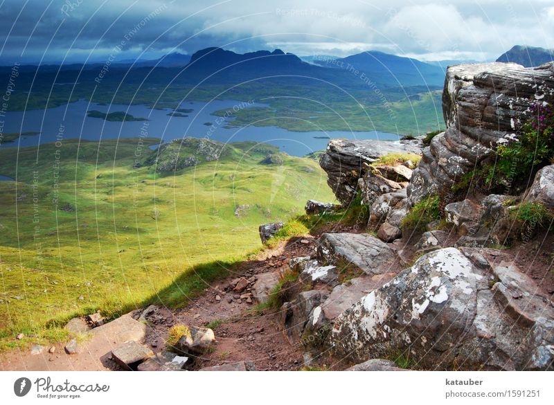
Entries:
[[553,101],[554,62],[537,68],[497,62],[450,66],[443,90],[447,129],[423,151],[408,187],[410,203],[447,190],[479,167],[500,138],[516,132],[532,105]]

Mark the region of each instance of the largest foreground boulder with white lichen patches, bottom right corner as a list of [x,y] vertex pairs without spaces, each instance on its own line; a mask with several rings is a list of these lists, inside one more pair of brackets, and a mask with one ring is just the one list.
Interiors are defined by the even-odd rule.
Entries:
[[356,363],[409,352],[431,370],[552,369],[553,303],[515,267],[464,252],[427,253],[363,296],[334,321],[328,347]]

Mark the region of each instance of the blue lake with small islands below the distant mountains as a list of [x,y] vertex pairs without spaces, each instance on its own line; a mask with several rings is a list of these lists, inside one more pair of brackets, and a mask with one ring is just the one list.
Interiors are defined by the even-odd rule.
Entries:
[[[0,147],[24,147],[38,143],[54,142],[57,136],[64,139],[84,138],[98,141],[107,138],[128,138],[139,136],[141,129],[147,129],[148,136],[162,138],[163,142],[172,139],[195,136],[208,137],[224,143],[235,141],[258,141],[280,147],[280,150],[292,156],[304,156],[310,152],[324,150],[329,138],[379,139],[394,141],[396,134],[387,132],[292,132],[278,127],[238,127],[226,128],[226,122],[233,118],[221,118],[211,115],[220,109],[265,107],[260,103],[235,100],[213,100],[211,102],[183,102],[179,108],[193,109],[188,116],[168,116],[172,109],[151,109],[144,105],[98,105],[84,100],[45,110],[9,111],[6,113],[4,133],[40,132],[35,136],[21,136],[13,143],[4,143]],[[125,111],[143,121],[106,121],[102,118],[87,117],[87,111],[98,110],[104,113]],[[218,120],[221,120],[219,122]],[[219,123],[218,123],[219,122]],[[205,125],[212,123],[213,125]]]

